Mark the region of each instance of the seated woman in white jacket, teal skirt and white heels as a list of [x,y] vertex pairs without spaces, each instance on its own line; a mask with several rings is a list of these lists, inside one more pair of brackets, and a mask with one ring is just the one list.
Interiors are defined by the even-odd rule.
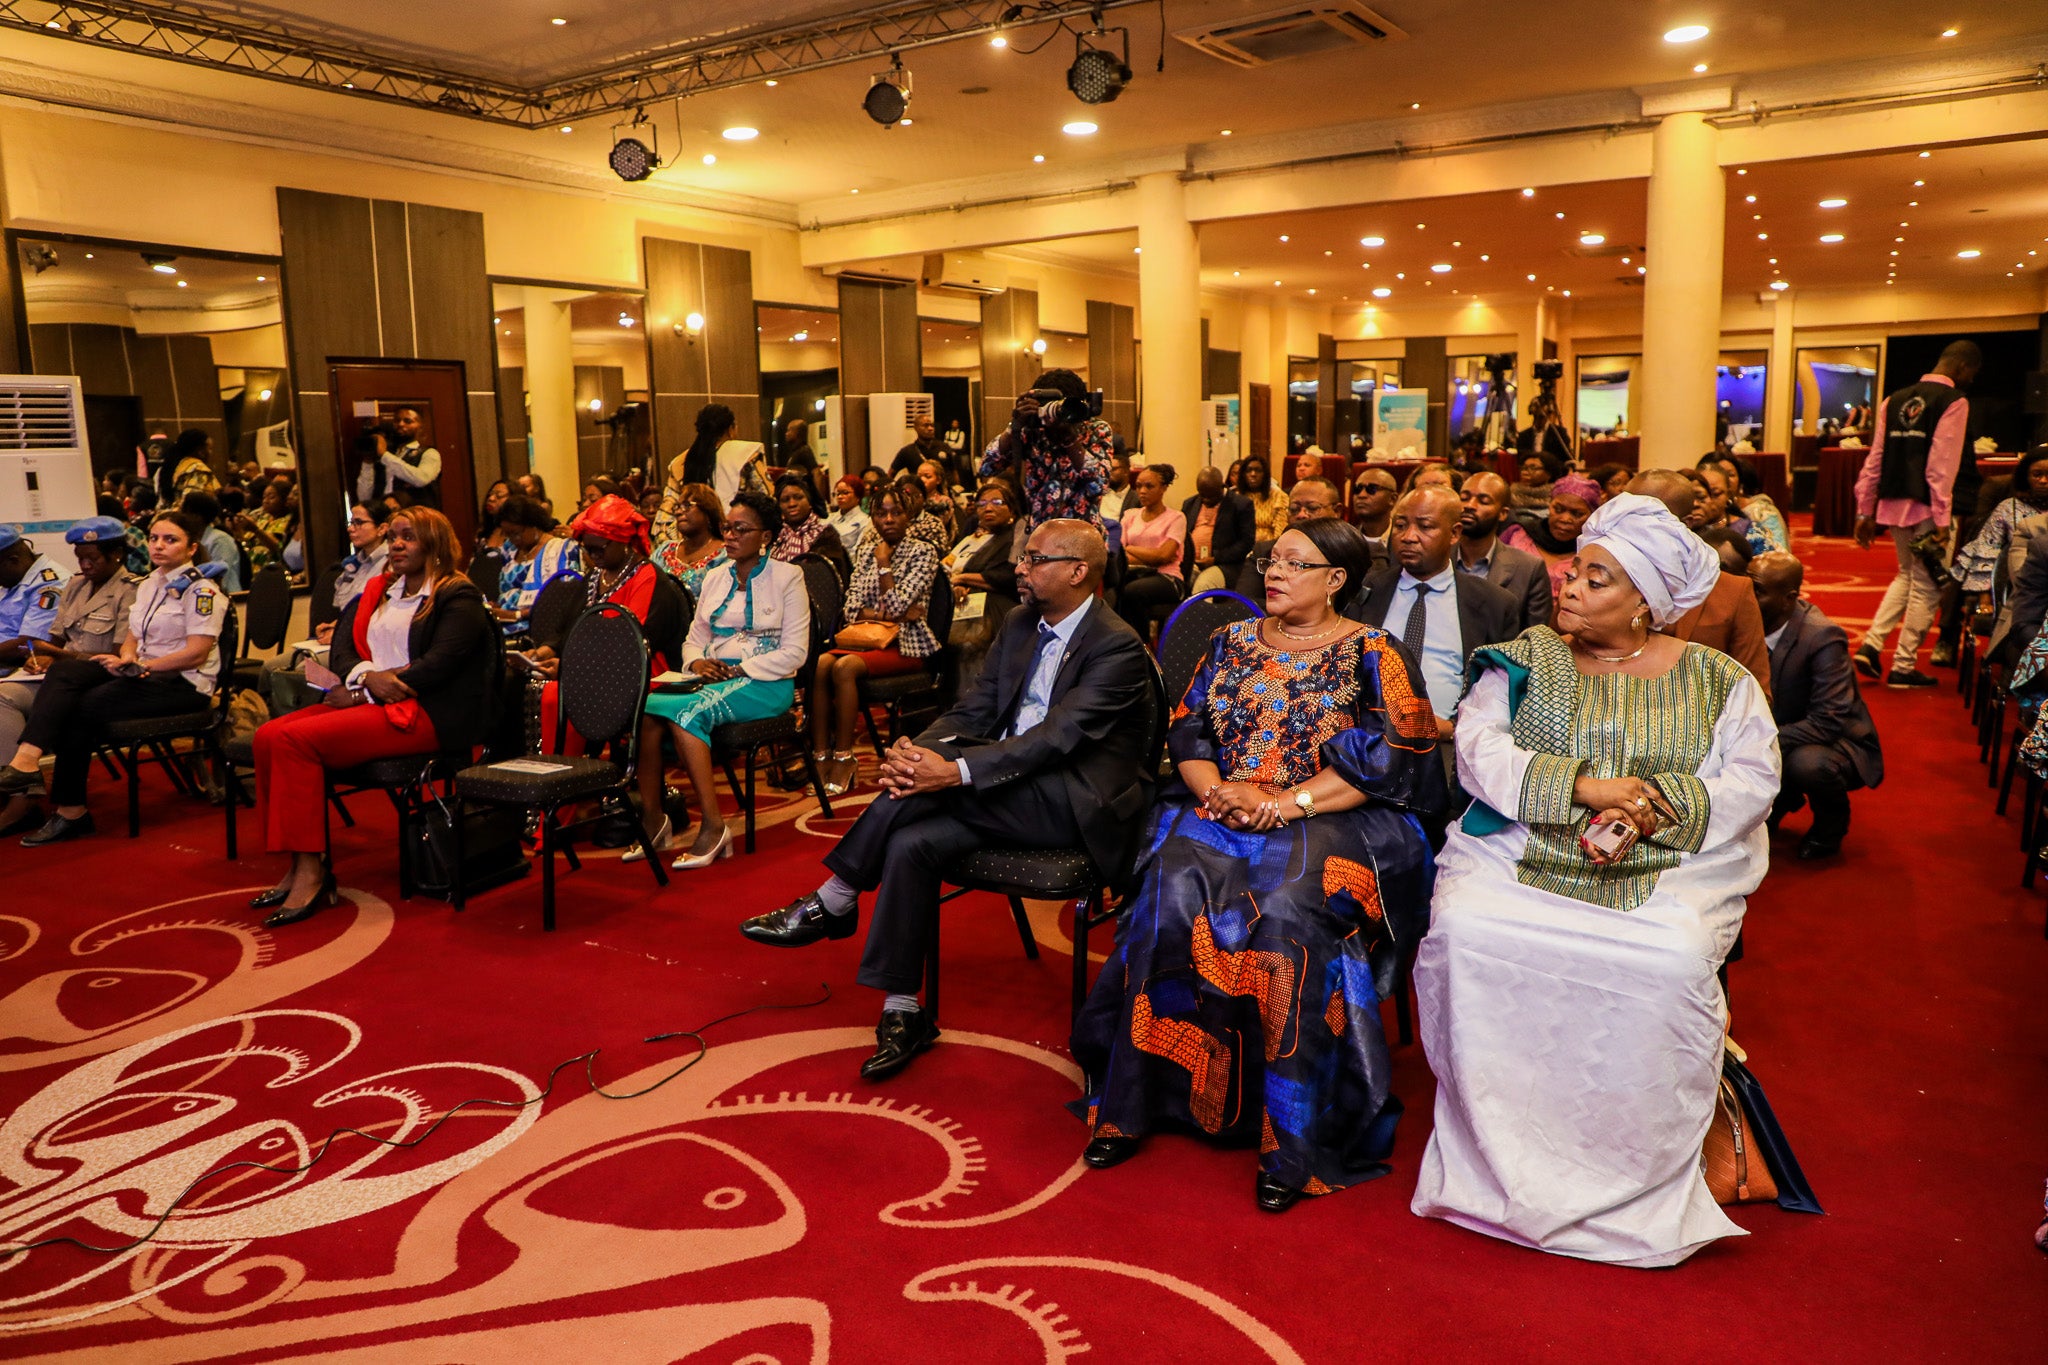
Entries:
[[655,851],[678,843],[662,808],[664,726],[676,741],[702,817],[690,851],[672,864],[678,872],[733,855],[733,833],[719,810],[711,733],[721,724],[782,716],[797,704],[795,679],[811,653],[811,598],[803,569],[768,555],[780,532],[782,512],[772,497],[752,491],[733,497],[725,514],[725,561],[705,575],[705,591],[696,598],[696,616],[682,643],[682,669],[702,686],[696,692],[655,692],[641,716],[641,819]]

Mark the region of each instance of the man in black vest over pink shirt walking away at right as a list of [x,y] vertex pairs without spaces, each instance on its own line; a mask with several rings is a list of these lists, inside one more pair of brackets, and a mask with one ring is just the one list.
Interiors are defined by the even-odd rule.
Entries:
[[1982,364],[1976,342],[1950,342],[1931,375],[1886,397],[1878,407],[1870,454],[1855,477],[1855,542],[1868,551],[1882,526],[1898,555],[1898,573],[1855,649],[1855,669],[1878,677],[1884,639],[1898,628],[1898,651],[1884,675],[1888,688],[1935,684],[1915,667],[1939,602],[1927,559],[1939,563],[1952,548],[1952,497],[1970,424],[1970,403],[1960,391]]

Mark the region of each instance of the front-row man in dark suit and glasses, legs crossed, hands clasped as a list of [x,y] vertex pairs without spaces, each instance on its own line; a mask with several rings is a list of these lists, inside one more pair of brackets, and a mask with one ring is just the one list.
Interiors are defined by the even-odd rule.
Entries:
[[[1096,591],[1108,546],[1085,522],[1032,530],[1018,598],[973,692],[915,741],[899,739],[877,798],[825,855],[815,892],[739,925],[756,943],[844,939],[860,892],[877,890],[860,956],[862,986],[887,993],[877,1050],[860,1074],[881,1081],[938,1040],[918,1003],[940,874],[981,847],[1085,847],[1106,882],[1137,857],[1155,774],[1145,772],[1153,663]],[[1151,722],[1147,722],[1151,720]]]

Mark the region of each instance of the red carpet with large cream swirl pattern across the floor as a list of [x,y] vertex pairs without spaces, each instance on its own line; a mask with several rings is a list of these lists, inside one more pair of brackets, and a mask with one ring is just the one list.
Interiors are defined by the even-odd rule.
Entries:
[[[1802,548],[1808,548],[1802,544]],[[1886,567],[1819,542],[1815,596],[1868,618]],[[1829,1214],[1661,1273],[1542,1257],[1407,1212],[1432,1081],[1397,1052],[1395,1175],[1272,1218],[1249,1152],[1155,1140],[1087,1173],[1065,1056],[1065,935],[1001,902],[946,915],[946,1042],[854,1076],[877,999],[858,943],[772,952],[733,923],[819,878],[829,827],[655,892],[610,855],[465,915],[395,902],[389,814],[338,837],[350,909],[266,933],[272,860],[145,788],[145,831],[0,849],[0,1234],[123,1242],[213,1166],[293,1164],[338,1126],[412,1138],[522,1101],[602,1048],[635,1091],[694,1054],[643,1042],[731,1011],[643,1099],[467,1109],[418,1148],[344,1138],[303,1177],[240,1171],[143,1250],[0,1267],[0,1355],[78,1361],[2040,1359],[2048,1259],[2048,900],[2017,886],[1956,694],[1872,694],[1890,782],[1837,866],[1788,831],[1733,972],[1737,1038]],[[113,825],[119,796],[94,796]],[[1796,817],[1798,825],[1804,817]],[[248,831],[250,827],[246,827]]]

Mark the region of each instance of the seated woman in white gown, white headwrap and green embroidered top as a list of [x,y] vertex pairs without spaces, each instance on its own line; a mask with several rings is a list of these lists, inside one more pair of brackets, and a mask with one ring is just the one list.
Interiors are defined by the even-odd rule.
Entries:
[[1741,1232],[1700,1142],[1726,1033],[1716,970],[1769,857],[1778,726],[1733,659],[1653,630],[1720,579],[1661,501],[1624,493],[1585,524],[1563,634],[1473,659],[1473,806],[1415,960],[1438,1081],[1423,1218],[1634,1267]]

